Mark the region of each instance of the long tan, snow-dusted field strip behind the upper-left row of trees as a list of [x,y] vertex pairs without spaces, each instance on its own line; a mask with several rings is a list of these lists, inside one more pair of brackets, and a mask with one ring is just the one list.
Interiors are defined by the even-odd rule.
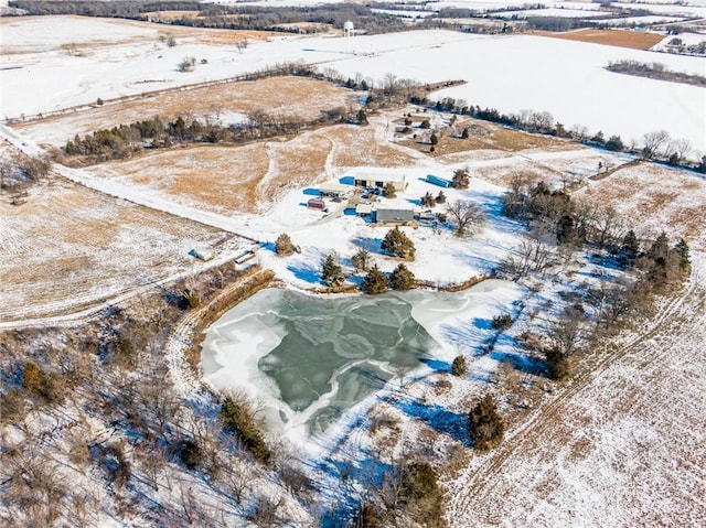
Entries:
[[247,114],[266,110],[278,116],[315,119],[321,110],[347,107],[354,103],[351,90],[304,77],[270,77],[256,82],[228,83],[186,90],[168,90],[135,100],[106,103],[74,114],[54,116],[24,125],[18,130],[34,141],[64,146],[75,134],[84,136],[101,128],[149,119],[175,118],[225,112]]

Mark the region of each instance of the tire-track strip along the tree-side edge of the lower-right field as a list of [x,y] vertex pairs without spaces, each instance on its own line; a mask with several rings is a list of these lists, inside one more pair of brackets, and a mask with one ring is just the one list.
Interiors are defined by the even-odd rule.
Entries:
[[[566,407],[575,396],[589,388],[593,379],[606,373],[616,362],[634,352],[641,344],[659,336],[661,332],[668,331],[670,328],[666,323],[678,315],[680,309],[682,309],[685,301],[693,295],[696,290],[697,283],[692,276],[687,285],[683,288],[680,294],[672,299],[652,320],[649,330],[634,336],[618,351],[608,353],[595,366],[577,375],[571,380],[570,386],[561,390],[553,401],[544,406],[525,423],[515,429],[512,435],[506,438],[500,448],[493,451],[480,467],[474,470],[469,478],[464,479],[462,484],[463,494],[460,495],[457,493],[451,498],[448,517],[456,519],[468,518],[469,514],[471,514],[473,500],[482,496],[486,482],[492,481],[493,476],[502,471],[515,449],[522,446],[525,439],[539,437],[552,429],[557,417],[563,414],[564,407]],[[705,319],[706,315],[702,316],[699,321],[703,322]],[[693,323],[692,327],[696,327],[695,325],[699,324],[699,321]],[[461,488],[461,485],[458,485],[458,488]]]

